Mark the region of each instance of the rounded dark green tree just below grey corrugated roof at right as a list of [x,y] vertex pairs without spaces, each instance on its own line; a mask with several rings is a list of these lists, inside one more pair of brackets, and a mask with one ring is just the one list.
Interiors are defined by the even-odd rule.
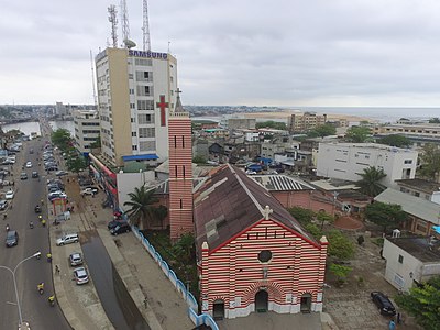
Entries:
[[375,201],[365,208],[365,217],[370,221],[382,226],[384,232],[387,227],[399,227],[408,219],[407,213],[397,204]]

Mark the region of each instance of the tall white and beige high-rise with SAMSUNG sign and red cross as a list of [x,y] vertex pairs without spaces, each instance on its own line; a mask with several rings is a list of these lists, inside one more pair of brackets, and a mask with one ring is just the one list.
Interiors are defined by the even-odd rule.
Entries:
[[106,48],[96,57],[101,156],[112,166],[168,157],[177,61],[170,54]]

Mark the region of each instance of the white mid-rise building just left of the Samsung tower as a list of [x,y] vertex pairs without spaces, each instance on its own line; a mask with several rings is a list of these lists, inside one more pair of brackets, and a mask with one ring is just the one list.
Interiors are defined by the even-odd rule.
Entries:
[[76,148],[82,153],[90,152],[90,144],[99,139],[99,116],[96,110],[73,111]]

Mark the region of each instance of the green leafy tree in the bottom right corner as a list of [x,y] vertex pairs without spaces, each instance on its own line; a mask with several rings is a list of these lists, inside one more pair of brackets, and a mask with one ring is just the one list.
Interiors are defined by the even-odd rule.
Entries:
[[437,330],[440,324],[440,276],[435,276],[408,294],[394,297],[396,304],[416,318],[424,329]]

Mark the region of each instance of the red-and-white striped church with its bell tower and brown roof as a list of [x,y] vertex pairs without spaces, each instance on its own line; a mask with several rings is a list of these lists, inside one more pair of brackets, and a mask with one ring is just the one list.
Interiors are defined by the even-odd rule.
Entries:
[[169,116],[172,239],[196,237],[202,312],[215,318],[322,310],[327,245],[240,168],[213,169],[194,191],[189,114]]

